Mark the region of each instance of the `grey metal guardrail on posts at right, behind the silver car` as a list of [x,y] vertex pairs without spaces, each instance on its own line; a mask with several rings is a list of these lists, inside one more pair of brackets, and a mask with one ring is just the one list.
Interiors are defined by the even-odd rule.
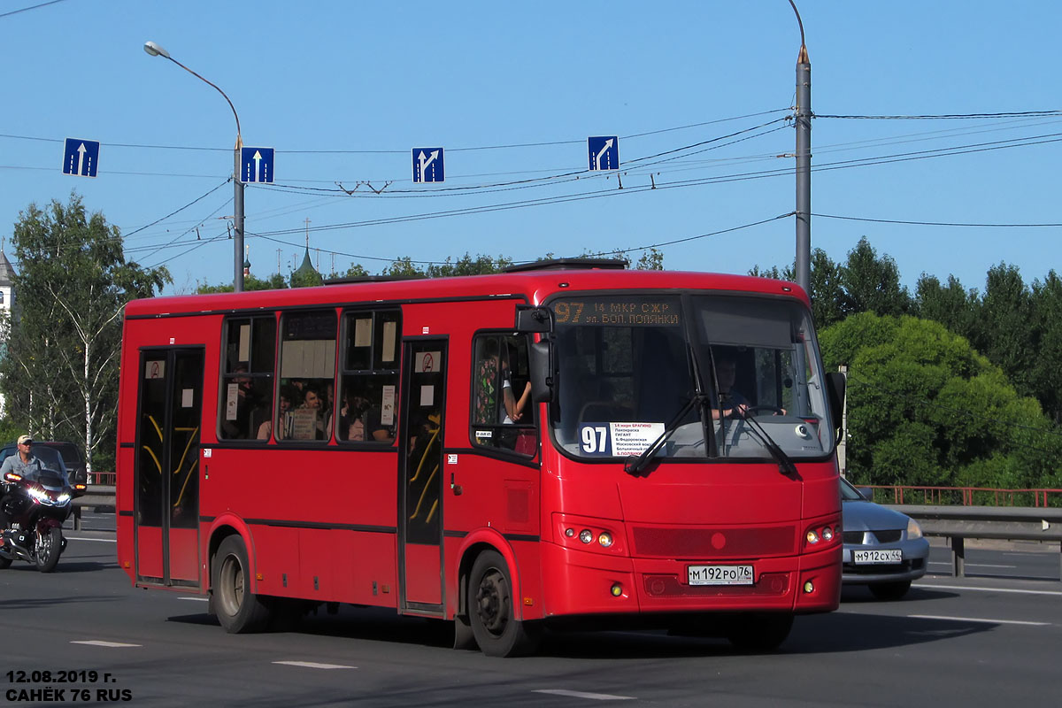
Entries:
[[952,569],[963,577],[965,539],[1032,540],[1059,543],[1059,580],[1062,580],[1062,508],[1034,506],[923,506],[890,504],[915,519],[925,536],[948,539]]

